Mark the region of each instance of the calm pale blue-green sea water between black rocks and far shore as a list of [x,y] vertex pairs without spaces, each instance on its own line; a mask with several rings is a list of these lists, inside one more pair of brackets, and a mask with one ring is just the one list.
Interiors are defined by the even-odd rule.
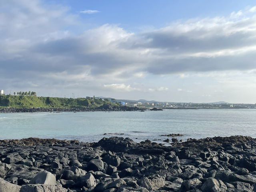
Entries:
[[[256,110],[206,109],[145,112],[62,112],[0,114],[0,140],[28,137],[98,141],[124,133],[134,141],[184,134],[180,139],[244,135],[256,138]],[[159,140],[158,142],[162,142]]]

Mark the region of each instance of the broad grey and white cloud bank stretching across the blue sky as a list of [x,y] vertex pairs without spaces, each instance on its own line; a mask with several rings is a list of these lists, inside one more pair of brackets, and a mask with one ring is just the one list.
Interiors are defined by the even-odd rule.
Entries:
[[162,84],[157,85],[160,88],[130,84],[148,75],[185,78],[185,73],[256,69],[256,7],[148,31],[130,32],[104,24],[81,34],[68,30],[83,24],[66,7],[10,0],[2,2],[1,10],[0,80],[17,87],[33,82],[45,88],[51,84],[167,91]]

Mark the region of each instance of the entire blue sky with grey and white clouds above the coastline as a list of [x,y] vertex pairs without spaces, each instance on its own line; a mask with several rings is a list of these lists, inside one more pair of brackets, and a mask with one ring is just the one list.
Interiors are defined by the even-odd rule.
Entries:
[[256,2],[0,0],[0,89],[256,103]]

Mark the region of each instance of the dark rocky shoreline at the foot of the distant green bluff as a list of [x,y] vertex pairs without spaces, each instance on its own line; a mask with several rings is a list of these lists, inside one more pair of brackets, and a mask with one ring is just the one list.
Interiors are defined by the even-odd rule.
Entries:
[[111,106],[105,104],[97,108],[0,108],[0,113],[17,113],[17,112],[85,112],[85,111],[140,111],[142,108],[130,106]]

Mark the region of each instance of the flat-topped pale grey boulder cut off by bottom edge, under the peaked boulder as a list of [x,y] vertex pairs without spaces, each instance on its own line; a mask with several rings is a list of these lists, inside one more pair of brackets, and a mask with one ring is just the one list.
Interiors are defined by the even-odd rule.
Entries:
[[22,186],[20,192],[67,192],[68,190],[59,185],[28,184]]

